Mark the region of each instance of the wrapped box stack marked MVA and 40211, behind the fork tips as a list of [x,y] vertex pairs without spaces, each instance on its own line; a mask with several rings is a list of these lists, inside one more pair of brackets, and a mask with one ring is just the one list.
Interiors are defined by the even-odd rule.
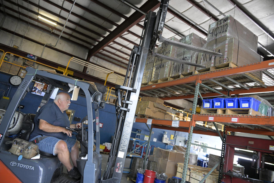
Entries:
[[[198,36],[197,34],[191,33],[190,35],[187,35],[186,37],[180,39],[179,42],[192,46],[202,47],[206,43],[206,40]],[[177,58],[184,61],[197,63],[198,55],[195,53],[195,51],[190,51],[189,49],[178,47]],[[186,65],[179,62],[172,62],[170,77],[177,77],[181,74],[193,72],[194,68],[195,67],[191,65]]]

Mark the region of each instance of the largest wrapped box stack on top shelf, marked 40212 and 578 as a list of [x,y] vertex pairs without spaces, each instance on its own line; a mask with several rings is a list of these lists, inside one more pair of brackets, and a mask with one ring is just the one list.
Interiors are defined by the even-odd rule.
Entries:
[[[207,42],[203,48],[222,53],[215,57],[206,53],[198,54],[198,64],[217,67],[226,63],[238,66],[260,61],[257,54],[258,37],[231,15],[209,25]],[[196,70],[201,69],[197,67]]]

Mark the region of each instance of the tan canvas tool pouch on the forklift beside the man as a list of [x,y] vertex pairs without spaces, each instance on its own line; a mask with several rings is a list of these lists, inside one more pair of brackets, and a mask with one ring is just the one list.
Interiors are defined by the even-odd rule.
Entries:
[[22,155],[23,158],[31,159],[39,153],[39,147],[32,142],[15,138],[9,152],[17,156]]

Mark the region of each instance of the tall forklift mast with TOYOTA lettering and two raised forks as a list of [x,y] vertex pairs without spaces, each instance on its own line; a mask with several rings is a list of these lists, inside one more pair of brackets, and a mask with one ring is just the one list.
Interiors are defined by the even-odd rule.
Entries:
[[216,53],[203,48],[179,43],[162,37],[162,31],[164,29],[164,22],[166,19],[166,12],[168,10],[168,1],[162,0],[160,8],[157,12],[150,11],[144,21],[144,30],[142,35],[142,44],[134,46],[128,62],[126,71],[126,77],[123,85],[116,85],[116,127],[115,134],[112,141],[112,147],[104,175],[102,176],[102,183],[120,182],[128,144],[130,140],[130,134],[132,131],[132,125],[134,122],[135,110],[140,93],[144,68],[146,64],[146,58],[148,53],[152,56],[159,57],[161,59],[167,59],[183,63],[185,65],[193,65],[205,68],[203,65],[180,60],[177,58],[168,57],[154,52],[156,41],[174,45],[176,47],[187,48],[192,51],[198,51],[215,56],[221,56],[221,53]]

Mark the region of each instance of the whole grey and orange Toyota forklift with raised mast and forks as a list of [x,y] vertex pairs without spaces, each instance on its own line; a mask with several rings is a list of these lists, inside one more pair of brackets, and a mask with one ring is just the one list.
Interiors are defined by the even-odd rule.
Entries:
[[[83,125],[78,130],[77,129],[77,139],[81,142],[81,157],[87,156],[87,159],[78,158],[77,166],[81,174],[81,180],[78,182],[94,182],[94,183],[119,183],[121,182],[122,172],[124,169],[124,163],[126,159],[126,152],[130,140],[130,134],[132,131],[132,125],[134,122],[135,110],[138,102],[138,97],[140,93],[140,87],[142,82],[142,77],[144,73],[144,67],[146,64],[146,58],[148,53],[152,56],[159,57],[161,59],[167,59],[170,61],[175,61],[183,63],[185,65],[192,65],[197,67],[205,68],[203,65],[196,63],[168,57],[154,52],[156,41],[161,43],[167,43],[177,47],[183,47],[192,51],[198,51],[202,53],[207,53],[210,55],[221,56],[222,54],[209,51],[203,48],[195,47],[192,45],[187,45],[184,43],[179,43],[162,37],[162,31],[164,28],[164,21],[166,18],[166,12],[168,8],[169,0],[162,0],[160,8],[157,13],[150,11],[144,21],[144,30],[142,35],[142,40],[139,46],[134,46],[130,55],[128,67],[126,70],[126,76],[123,85],[116,85],[116,126],[115,134],[112,141],[112,147],[110,150],[106,170],[101,176],[101,155],[99,152],[100,146],[100,132],[99,132],[99,115],[98,108],[104,108],[104,102],[101,101],[102,94],[104,94],[104,87],[95,83],[87,83],[84,81],[75,80],[73,78],[68,78],[65,75],[59,75],[55,73],[50,73],[47,71],[41,71],[34,69],[32,67],[27,67],[27,75],[23,79],[22,83],[19,85],[15,95],[13,96],[5,116],[2,119],[0,125],[0,177],[7,182],[34,182],[34,183],[53,183],[61,182],[59,179],[65,179],[62,172],[62,165],[57,157],[48,157],[47,155],[41,156],[38,160],[28,160],[23,158],[21,161],[17,160],[17,156],[11,154],[7,150],[10,148],[9,144],[5,142],[10,141],[7,137],[9,127],[13,116],[16,112],[20,101],[24,98],[26,92],[32,80],[39,79],[53,87],[61,87],[68,89],[68,84],[75,85],[81,88],[82,93],[86,97],[87,104],[87,118],[89,124],[89,132],[87,133],[87,127]],[[100,88],[100,89],[99,89]],[[50,90],[49,90],[50,91]],[[47,98],[43,98],[41,103],[47,103],[49,100],[50,92],[47,91]],[[92,104],[94,104],[95,109],[95,119],[92,118]],[[31,115],[29,115],[31,116]],[[31,118],[27,119],[31,123]],[[23,122],[23,128],[28,122]],[[96,150],[93,151],[93,122],[96,122]],[[82,121],[83,123],[83,121]],[[22,129],[23,129],[22,128]],[[23,129],[24,130],[24,129]],[[73,129],[70,129],[73,130]],[[22,130],[21,130],[22,131]],[[24,130],[27,131],[27,130]],[[75,129],[73,130],[75,131]],[[29,132],[28,132],[29,133]],[[27,135],[26,135],[27,136]],[[22,136],[24,138],[24,135]],[[27,139],[27,138],[25,138]],[[87,154],[87,155],[86,155]],[[146,153],[147,154],[147,153]],[[19,165],[18,165],[19,164]],[[21,167],[22,165],[22,167]],[[27,169],[25,167],[33,167],[32,169]],[[63,181],[63,180],[62,180]],[[68,180],[67,182],[77,182],[75,180]]]

